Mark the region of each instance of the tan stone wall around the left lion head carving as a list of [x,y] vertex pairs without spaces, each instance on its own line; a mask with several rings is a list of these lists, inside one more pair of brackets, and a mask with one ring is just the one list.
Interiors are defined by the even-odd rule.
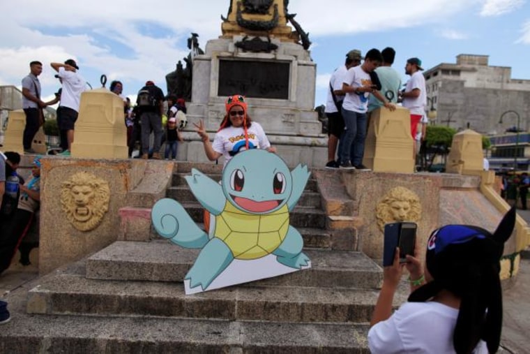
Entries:
[[[149,189],[140,183],[148,179],[146,172],[153,171],[153,168],[147,168],[147,165],[159,167],[157,173],[151,173],[156,179],[151,179]],[[165,193],[165,187],[172,177],[172,168],[172,163],[163,161],[44,157],[40,185],[41,198],[44,201],[40,206],[40,274],[47,274],[61,265],[84,258],[114,242],[121,227],[119,209],[127,206],[128,194],[141,186],[144,196],[153,193],[158,198],[160,193]],[[165,174],[161,171],[165,171]],[[100,223],[89,232],[79,230],[75,224],[70,223],[61,204],[62,182],[78,172],[90,173],[105,181],[109,187],[107,212],[101,216]],[[165,182],[160,182],[160,179],[165,179]],[[156,180],[159,182],[153,182]],[[92,198],[89,200],[93,200]],[[96,204],[91,203],[88,204],[91,210],[98,208]]]

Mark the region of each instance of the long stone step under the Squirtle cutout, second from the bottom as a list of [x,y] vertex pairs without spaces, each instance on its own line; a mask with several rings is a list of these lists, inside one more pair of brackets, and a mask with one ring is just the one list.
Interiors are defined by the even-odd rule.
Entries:
[[29,290],[27,312],[164,316],[288,323],[365,323],[377,289],[232,286],[185,295],[183,283],[86,279],[57,274]]

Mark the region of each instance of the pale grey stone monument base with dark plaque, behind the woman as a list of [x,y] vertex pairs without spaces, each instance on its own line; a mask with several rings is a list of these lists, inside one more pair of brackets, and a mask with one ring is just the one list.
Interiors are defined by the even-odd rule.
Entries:
[[[199,140],[192,124],[199,119],[204,120],[213,138],[225,116],[229,91],[246,96],[248,114],[253,121],[262,124],[271,144],[288,163],[291,160],[298,163],[298,156],[304,154],[304,159],[310,156],[307,161],[310,167],[324,166],[327,136],[321,133],[321,122],[315,112],[316,64],[310,53],[301,45],[276,38],[271,38],[271,43],[278,49],[272,52],[245,52],[236,47],[242,40],[243,36],[209,40],[206,54],[194,57],[192,102],[188,105],[185,129],[190,134],[185,138]],[[261,40],[268,42],[266,37]],[[264,70],[278,65],[285,74],[278,75],[277,81],[267,81],[263,75],[250,71],[251,68],[259,70],[260,65]],[[248,75],[223,71],[228,66],[249,71]],[[189,161],[195,161],[193,156],[204,155],[202,144],[188,145],[187,152]]]

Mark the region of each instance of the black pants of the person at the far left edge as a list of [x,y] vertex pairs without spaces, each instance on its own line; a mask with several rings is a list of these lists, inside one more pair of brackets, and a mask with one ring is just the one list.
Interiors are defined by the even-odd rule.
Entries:
[[8,269],[11,264],[20,242],[26,236],[29,226],[31,226],[34,215],[34,213],[27,210],[17,209],[10,220],[3,221],[3,230],[1,230],[0,238],[0,273]]

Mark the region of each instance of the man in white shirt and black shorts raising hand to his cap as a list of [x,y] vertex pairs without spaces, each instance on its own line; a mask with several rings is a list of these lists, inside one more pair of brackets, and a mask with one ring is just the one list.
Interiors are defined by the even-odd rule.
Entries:
[[79,115],[79,101],[85,89],[86,81],[77,73],[79,66],[77,66],[74,59],[68,59],[64,64],[52,63],[51,66],[59,73],[59,78],[61,78],[63,84],[60,104],[61,126],[59,126],[59,129],[66,131],[68,149],[62,154],[68,156],[74,141],[74,126],[77,115]]

